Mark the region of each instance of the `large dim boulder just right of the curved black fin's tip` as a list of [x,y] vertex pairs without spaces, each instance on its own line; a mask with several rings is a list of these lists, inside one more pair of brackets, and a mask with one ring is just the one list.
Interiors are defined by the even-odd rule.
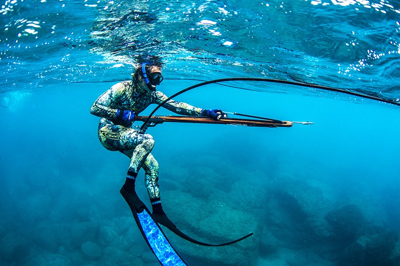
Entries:
[[331,235],[324,219],[331,205],[319,188],[282,178],[273,184],[266,201],[265,222],[281,247],[312,247]]

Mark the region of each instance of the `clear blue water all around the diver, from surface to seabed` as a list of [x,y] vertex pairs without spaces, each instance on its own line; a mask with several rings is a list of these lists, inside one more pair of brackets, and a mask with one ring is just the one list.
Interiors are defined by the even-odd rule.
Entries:
[[[396,1],[5,0],[0,24],[1,265],[158,264],[118,193],[129,160],[101,146],[89,114],[141,55],[162,58],[167,95],[190,78],[244,76],[400,98]],[[254,232],[204,248],[165,230],[185,262],[400,265],[398,106],[226,84],[239,88],[176,100],[314,124],[148,129],[163,206],[182,231],[213,243]]]

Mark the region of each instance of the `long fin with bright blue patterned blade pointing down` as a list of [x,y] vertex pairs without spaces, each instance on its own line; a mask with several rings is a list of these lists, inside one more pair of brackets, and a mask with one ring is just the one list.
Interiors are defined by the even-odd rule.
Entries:
[[144,240],[162,266],[187,266],[179,254],[170,245],[160,226],[151,217],[144,203],[137,194],[119,191],[132,211],[133,218]]

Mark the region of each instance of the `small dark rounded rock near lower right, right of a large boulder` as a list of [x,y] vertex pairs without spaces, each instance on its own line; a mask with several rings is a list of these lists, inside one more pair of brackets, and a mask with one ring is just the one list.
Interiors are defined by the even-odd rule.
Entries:
[[325,219],[331,226],[334,237],[344,242],[353,241],[358,229],[366,222],[360,209],[352,204],[329,211]]

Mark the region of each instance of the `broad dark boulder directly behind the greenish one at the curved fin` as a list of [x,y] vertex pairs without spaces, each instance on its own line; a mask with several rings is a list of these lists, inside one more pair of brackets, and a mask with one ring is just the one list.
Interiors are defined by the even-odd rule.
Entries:
[[218,167],[208,167],[210,162],[220,161],[219,157],[202,155],[186,169],[182,192],[200,199],[224,202],[231,208],[240,208],[260,215],[266,198],[264,173],[249,172],[230,161],[220,162]]

